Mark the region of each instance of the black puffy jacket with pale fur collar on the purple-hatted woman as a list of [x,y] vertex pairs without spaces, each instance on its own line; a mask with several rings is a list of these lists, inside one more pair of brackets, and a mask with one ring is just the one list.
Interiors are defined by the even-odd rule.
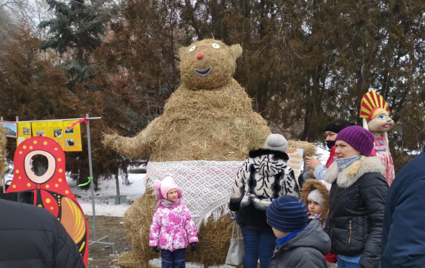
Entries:
[[[360,163],[360,162],[359,162]],[[325,232],[332,243],[330,252],[343,256],[361,254],[360,267],[378,268],[383,212],[388,184],[381,159],[366,157],[341,172],[336,162],[324,180],[332,184]]]

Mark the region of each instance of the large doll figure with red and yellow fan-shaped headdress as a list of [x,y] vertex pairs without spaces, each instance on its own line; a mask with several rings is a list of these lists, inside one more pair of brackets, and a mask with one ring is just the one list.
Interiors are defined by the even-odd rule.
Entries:
[[388,104],[373,89],[364,94],[361,99],[360,118],[363,118],[363,127],[372,132],[375,137],[376,156],[379,156],[385,165],[386,169],[383,176],[390,186],[395,174],[386,133],[394,125],[394,121],[389,117]]

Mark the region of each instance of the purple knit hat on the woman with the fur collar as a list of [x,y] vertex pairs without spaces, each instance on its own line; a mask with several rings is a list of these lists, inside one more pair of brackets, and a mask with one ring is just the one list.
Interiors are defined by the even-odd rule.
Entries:
[[370,156],[374,147],[375,137],[372,132],[360,126],[350,126],[342,129],[336,140],[343,140],[364,156]]

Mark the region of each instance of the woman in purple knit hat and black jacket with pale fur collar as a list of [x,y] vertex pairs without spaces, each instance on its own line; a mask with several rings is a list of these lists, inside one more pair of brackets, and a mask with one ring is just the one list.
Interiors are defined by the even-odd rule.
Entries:
[[325,232],[338,268],[378,268],[388,184],[385,166],[372,156],[373,134],[359,126],[336,137],[335,161],[324,180],[332,184]]

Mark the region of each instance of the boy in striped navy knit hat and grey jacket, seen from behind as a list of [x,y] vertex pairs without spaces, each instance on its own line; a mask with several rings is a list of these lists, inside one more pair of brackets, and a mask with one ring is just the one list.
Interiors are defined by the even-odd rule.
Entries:
[[323,256],[330,251],[330,239],[318,221],[307,224],[307,209],[299,198],[276,198],[266,216],[277,238],[269,268],[327,268]]

